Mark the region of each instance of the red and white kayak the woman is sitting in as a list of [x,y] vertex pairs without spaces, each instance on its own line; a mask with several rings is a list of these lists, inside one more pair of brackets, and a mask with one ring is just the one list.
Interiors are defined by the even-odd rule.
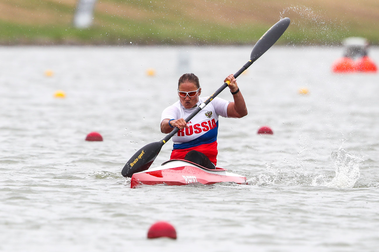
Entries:
[[210,170],[190,161],[172,159],[153,169],[134,173],[130,188],[157,184],[168,186],[182,186],[193,183],[211,185],[219,182],[247,184],[246,177],[227,172],[226,169],[216,167],[215,170]]

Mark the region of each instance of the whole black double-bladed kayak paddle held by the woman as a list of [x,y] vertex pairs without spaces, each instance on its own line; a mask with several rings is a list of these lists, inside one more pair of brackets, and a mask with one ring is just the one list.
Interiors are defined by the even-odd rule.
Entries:
[[[287,27],[290,25],[290,19],[288,17],[281,19],[275,25],[273,25],[265,34],[255,43],[253,50],[250,54],[250,60],[234,74],[234,78],[237,78],[243,71],[245,71],[255,60],[257,60],[262,54],[264,54],[274,43],[282,36]],[[222,90],[224,90],[229,85],[229,80],[222,84],[222,86],[213,93],[205,102],[199,105],[186,119],[189,122],[197,113],[199,113],[208,103],[210,103],[213,98],[218,96]],[[174,128],[165,138],[159,142],[153,142],[145,145],[143,148],[138,150],[132,158],[125,164],[121,171],[122,176],[132,177],[133,173],[142,172],[149,169],[152,162],[158,156],[162,146],[169,141],[172,136],[178,132],[179,128]]]

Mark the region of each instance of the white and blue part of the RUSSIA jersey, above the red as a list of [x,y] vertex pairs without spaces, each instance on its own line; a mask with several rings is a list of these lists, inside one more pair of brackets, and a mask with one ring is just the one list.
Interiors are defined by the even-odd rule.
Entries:
[[[197,106],[207,100],[209,97],[199,97]],[[174,149],[186,149],[201,144],[209,144],[217,140],[218,116],[227,116],[227,107],[229,101],[219,97],[213,98],[199,113],[196,114],[187,125],[189,128],[179,130],[172,137]],[[180,104],[180,100],[163,110],[161,122],[164,119],[180,119],[188,117],[194,108],[186,109]]]

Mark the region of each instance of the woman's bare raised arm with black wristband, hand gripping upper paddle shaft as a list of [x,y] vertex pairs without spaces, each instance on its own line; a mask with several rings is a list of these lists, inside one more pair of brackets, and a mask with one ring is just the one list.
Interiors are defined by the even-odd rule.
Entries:
[[236,79],[234,78],[233,74],[230,74],[224,82],[229,80],[228,87],[230,88],[230,92],[233,95],[233,102],[230,102],[227,108],[227,114],[228,117],[233,118],[241,118],[247,115],[247,108],[245,104],[245,100],[243,99],[242,93],[240,89],[238,88]]

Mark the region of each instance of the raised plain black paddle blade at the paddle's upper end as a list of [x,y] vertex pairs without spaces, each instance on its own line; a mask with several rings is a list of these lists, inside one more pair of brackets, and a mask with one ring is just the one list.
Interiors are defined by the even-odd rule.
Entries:
[[280,36],[283,35],[287,27],[290,25],[290,19],[285,17],[279,20],[275,25],[271,26],[268,31],[258,40],[250,55],[251,63],[257,60],[264,54],[271,46],[277,42]]

